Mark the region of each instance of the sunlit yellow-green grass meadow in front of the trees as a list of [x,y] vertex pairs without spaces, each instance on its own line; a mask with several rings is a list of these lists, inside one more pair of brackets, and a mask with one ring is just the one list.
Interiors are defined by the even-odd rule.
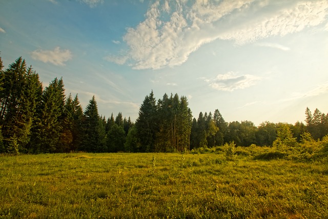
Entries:
[[242,150],[2,155],[0,218],[328,218],[326,158]]

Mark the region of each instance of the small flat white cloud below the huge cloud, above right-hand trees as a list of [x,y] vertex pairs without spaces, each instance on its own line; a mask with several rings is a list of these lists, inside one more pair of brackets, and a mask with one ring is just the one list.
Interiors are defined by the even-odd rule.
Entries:
[[234,72],[228,72],[226,74],[218,74],[215,78],[206,79],[205,81],[215,90],[234,91],[251,87],[260,79],[260,77],[250,74],[237,75]]

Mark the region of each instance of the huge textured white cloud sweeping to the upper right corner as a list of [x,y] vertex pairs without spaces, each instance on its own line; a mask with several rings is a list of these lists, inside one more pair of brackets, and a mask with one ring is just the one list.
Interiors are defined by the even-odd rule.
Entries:
[[[203,44],[217,39],[243,45],[283,36],[321,24],[327,14],[326,0],[195,1],[193,5],[185,0],[156,1],[145,21],[128,28],[123,36],[129,48],[125,58],[134,69],[174,67],[185,63]],[[266,46],[289,49],[278,44]]]

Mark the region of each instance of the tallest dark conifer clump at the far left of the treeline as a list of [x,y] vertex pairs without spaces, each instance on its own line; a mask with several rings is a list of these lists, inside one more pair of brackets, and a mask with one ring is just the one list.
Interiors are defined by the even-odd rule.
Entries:
[[4,139],[2,150],[27,152],[40,89],[38,75],[32,67],[27,68],[25,60],[19,57],[6,71],[1,68],[0,78],[0,126]]

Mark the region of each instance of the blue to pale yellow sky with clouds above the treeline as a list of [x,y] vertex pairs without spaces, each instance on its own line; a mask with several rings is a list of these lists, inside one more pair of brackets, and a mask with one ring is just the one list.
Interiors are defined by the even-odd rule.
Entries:
[[328,1],[0,0],[5,69],[135,121],[145,96],[177,93],[194,117],[304,122],[328,112]]

